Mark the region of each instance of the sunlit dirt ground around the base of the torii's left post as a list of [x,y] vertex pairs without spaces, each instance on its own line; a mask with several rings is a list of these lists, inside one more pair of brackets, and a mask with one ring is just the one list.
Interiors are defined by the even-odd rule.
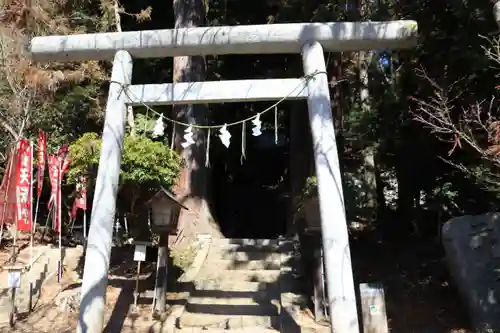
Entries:
[[[9,249],[0,252],[0,262],[8,259]],[[136,263],[129,249],[116,251],[112,256],[107,288],[104,332],[148,332],[151,321],[152,299],[142,295],[134,307]],[[130,257],[130,258],[129,258]],[[61,283],[51,280],[42,287],[41,299],[28,316],[19,314],[15,327],[0,330],[2,333],[69,333],[75,332],[78,321],[81,283],[79,280],[83,262],[76,269],[66,270]],[[139,291],[152,289],[154,272],[150,265],[143,265],[139,280]],[[149,296],[149,295],[147,295]]]

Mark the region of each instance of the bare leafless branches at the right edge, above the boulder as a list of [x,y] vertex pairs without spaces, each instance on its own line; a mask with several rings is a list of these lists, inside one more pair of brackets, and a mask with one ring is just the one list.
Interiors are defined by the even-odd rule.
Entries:
[[[485,55],[493,63],[500,65],[500,39],[488,42],[491,47],[484,48]],[[449,156],[455,150],[467,146],[485,163],[480,166],[482,169],[479,172],[479,169],[461,163],[447,159],[443,161],[468,176],[481,178],[480,180],[488,187],[500,190],[500,175],[497,176],[498,172],[492,171],[492,169],[500,170],[500,119],[496,98],[493,96],[489,100],[478,101],[467,108],[457,108],[454,102],[463,92],[457,91],[456,87],[462,80],[443,87],[424,69],[420,69],[417,75],[429,84],[434,94],[428,100],[410,97],[410,100],[415,102],[415,108],[412,110],[414,120],[428,128],[439,140],[450,143]]]

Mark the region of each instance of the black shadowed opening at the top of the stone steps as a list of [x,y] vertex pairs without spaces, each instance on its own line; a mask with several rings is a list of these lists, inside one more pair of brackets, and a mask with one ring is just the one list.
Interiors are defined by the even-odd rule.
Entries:
[[215,219],[228,238],[277,238],[285,234],[290,204],[288,138],[280,131],[276,144],[273,129],[259,137],[247,129],[244,158],[239,129],[229,149],[212,155]]

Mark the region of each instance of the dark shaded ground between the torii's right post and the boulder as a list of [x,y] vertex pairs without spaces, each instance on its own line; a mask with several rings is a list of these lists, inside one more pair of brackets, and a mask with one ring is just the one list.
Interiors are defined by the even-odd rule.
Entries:
[[472,332],[439,243],[401,244],[364,232],[351,244],[355,281],[384,285],[392,331]]

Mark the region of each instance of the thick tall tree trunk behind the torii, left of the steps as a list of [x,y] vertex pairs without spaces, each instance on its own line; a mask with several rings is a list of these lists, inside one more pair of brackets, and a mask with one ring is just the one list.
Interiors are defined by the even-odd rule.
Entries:
[[[205,21],[205,4],[203,0],[173,0],[175,15],[175,29],[202,26]],[[205,60],[202,56],[175,57],[173,82],[197,82],[205,79]],[[190,124],[207,124],[209,110],[201,104],[179,105],[174,107],[174,115]],[[184,134],[182,126],[176,128],[175,147],[182,151],[186,165],[181,171],[177,184],[179,199],[189,207],[190,211],[183,211],[179,217],[179,230],[183,239],[190,240],[194,233],[210,233],[217,235],[217,228],[213,224],[209,200],[209,172],[205,167],[206,132],[193,129],[195,144],[183,149],[181,140]],[[181,241],[182,244],[182,241]]]

